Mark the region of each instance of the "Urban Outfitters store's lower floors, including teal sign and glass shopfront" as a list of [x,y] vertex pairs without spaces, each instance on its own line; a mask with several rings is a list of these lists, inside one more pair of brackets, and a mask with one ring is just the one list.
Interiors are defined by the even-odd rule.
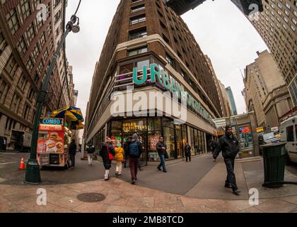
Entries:
[[[146,165],[147,162],[159,161],[156,144],[160,136],[163,136],[164,142],[168,146],[169,160],[185,157],[186,143],[191,146],[192,155],[209,152],[209,142],[216,138],[215,125],[211,121],[214,116],[209,114],[210,111],[207,110],[205,104],[202,104],[199,96],[195,93],[197,89],[185,84],[180,74],[174,74],[174,72],[170,72],[170,69],[165,71],[156,62],[149,65],[148,60],[142,60],[137,62],[135,66],[137,67],[131,68],[128,70],[129,72],[120,70],[111,80],[111,83],[107,83],[106,95],[102,99],[98,114],[93,120],[95,122],[93,128],[95,129],[92,131],[97,133],[89,135],[97,150],[100,149],[105,136],[115,140],[115,143],[120,141],[123,146],[127,138],[137,132],[144,146],[144,153],[141,155],[142,165]],[[154,109],[156,113],[161,113],[161,115],[127,116],[127,113],[131,112],[131,110],[128,110],[126,106],[124,111],[119,113],[122,116],[111,116],[110,109],[112,109],[112,104],[115,103],[115,100],[112,99],[112,96],[115,95],[112,95],[112,92],[122,92],[126,96],[125,100],[133,100],[132,97],[127,98],[129,93],[127,92],[127,86],[131,85],[132,92],[143,92],[142,94],[146,93],[147,96],[148,92],[151,91],[178,92],[178,105],[181,105],[182,95],[186,95],[187,107],[185,110],[187,120],[183,124],[175,124],[173,119],[176,119],[176,117],[169,117],[165,110],[160,109],[157,104],[153,108],[150,106],[147,110]],[[160,100],[156,102],[158,101]]]

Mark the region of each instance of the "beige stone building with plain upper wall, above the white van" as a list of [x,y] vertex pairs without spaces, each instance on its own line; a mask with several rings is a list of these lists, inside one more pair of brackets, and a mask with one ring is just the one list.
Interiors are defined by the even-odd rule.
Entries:
[[264,50],[245,68],[245,102],[255,111],[258,126],[275,127],[293,109],[293,103],[281,72],[272,55]]

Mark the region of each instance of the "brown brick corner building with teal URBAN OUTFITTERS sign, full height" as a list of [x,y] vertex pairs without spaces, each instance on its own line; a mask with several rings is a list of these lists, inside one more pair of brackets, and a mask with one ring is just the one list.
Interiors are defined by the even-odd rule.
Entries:
[[[158,105],[141,106],[141,111],[153,112],[149,117],[130,115],[127,104],[122,116],[110,114],[113,92],[122,92],[124,97],[132,92],[146,96],[168,89],[187,92],[187,121],[182,125],[175,124],[175,116],[168,116]],[[145,163],[158,160],[156,142],[163,135],[169,158],[175,159],[184,156],[186,142],[192,145],[193,155],[209,151],[208,141],[216,135],[211,119],[219,116],[221,103],[211,70],[182,18],[161,0],[120,1],[93,74],[86,142],[92,140],[100,147],[109,135],[124,143],[137,131],[146,150]]]

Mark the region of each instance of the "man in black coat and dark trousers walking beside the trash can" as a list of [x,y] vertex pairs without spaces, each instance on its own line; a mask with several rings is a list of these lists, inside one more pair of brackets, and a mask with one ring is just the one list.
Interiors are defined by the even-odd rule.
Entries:
[[233,193],[239,195],[240,190],[237,187],[234,174],[234,160],[239,152],[239,148],[238,140],[232,132],[232,126],[226,126],[226,134],[220,138],[219,145],[216,147],[216,150],[214,150],[214,162],[216,162],[216,158],[219,156],[221,151],[227,168],[225,187],[232,188]]

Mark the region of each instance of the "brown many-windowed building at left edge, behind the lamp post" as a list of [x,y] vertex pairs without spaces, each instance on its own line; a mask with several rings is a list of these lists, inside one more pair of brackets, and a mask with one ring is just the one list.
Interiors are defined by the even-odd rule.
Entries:
[[[65,9],[62,0],[0,1],[0,136],[8,149],[32,131],[37,96],[64,31]],[[66,65],[62,50],[42,114],[69,102],[68,82],[62,91]]]

